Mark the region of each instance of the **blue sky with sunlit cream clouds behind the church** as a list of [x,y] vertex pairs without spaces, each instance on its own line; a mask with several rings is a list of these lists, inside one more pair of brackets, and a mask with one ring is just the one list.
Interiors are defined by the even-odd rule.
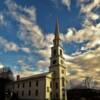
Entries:
[[0,0],[0,68],[48,71],[56,17],[72,82],[100,82],[100,0]]

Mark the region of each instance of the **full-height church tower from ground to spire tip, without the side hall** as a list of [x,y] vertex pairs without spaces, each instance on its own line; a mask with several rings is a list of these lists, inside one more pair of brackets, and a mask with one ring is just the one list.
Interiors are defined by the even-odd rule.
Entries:
[[53,73],[52,80],[52,99],[67,100],[66,98],[66,66],[64,51],[61,44],[59,22],[56,21],[55,37],[51,48],[51,58],[49,71]]

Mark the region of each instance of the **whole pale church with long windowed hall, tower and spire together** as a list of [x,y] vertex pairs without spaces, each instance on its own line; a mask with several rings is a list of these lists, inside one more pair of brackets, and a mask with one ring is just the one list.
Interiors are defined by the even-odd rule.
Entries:
[[28,100],[67,100],[66,66],[59,33],[57,20],[51,48],[49,72],[24,78],[17,76],[17,80],[12,84],[12,89],[19,98]]

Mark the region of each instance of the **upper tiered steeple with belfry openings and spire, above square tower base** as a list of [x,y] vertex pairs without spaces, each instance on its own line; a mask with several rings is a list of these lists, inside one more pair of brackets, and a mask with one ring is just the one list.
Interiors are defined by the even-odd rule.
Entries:
[[[57,19],[56,28],[55,28],[55,37],[54,37],[54,40],[53,40],[53,47],[51,48],[51,66],[54,66],[55,64],[63,65],[62,62],[64,62],[63,48],[62,48],[59,33],[60,33],[59,22],[58,22],[58,19]],[[59,61],[59,59],[61,59],[61,62]]]

